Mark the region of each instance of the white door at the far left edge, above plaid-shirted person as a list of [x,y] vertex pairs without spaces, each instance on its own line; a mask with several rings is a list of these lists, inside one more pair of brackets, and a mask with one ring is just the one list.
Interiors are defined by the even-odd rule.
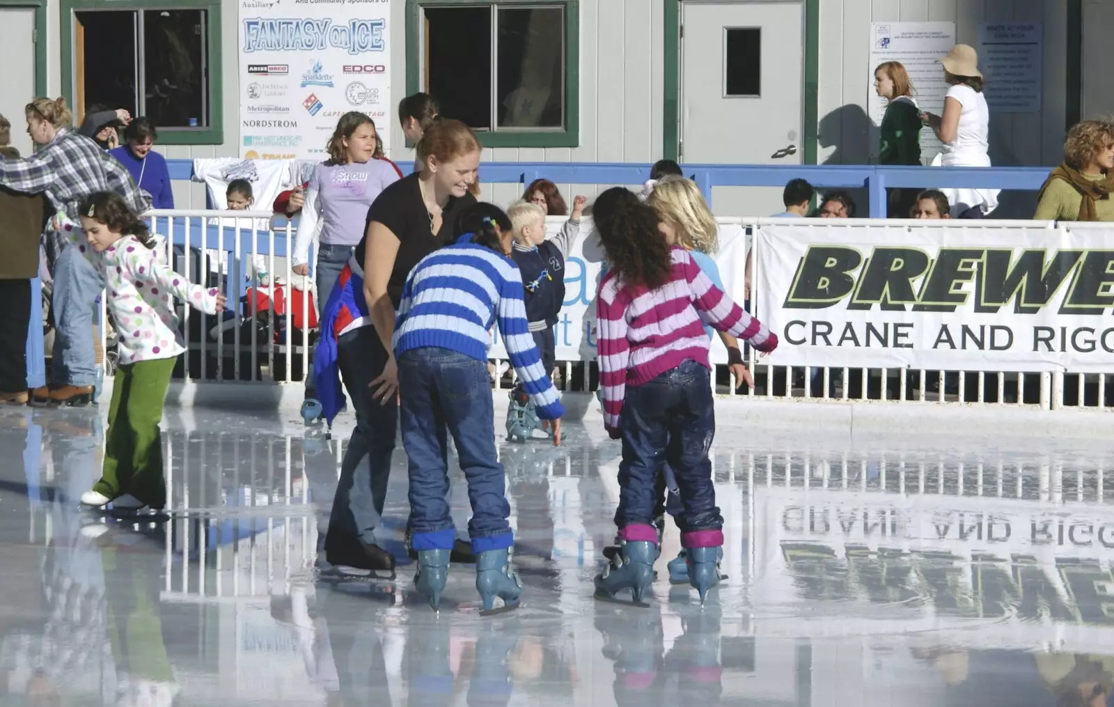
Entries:
[[35,9],[0,8],[0,114],[11,123],[11,144],[31,154],[23,106],[35,98]]

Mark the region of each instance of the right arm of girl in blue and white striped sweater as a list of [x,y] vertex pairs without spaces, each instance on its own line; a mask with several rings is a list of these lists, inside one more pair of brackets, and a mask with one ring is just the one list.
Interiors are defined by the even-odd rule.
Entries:
[[[526,319],[526,302],[522,300],[522,279],[518,268],[506,274],[499,283],[499,303],[496,316],[499,321],[499,335],[510,357],[510,365],[518,374],[522,389],[534,401],[538,417],[541,419],[559,419],[565,408],[557,397],[557,390],[549,380],[549,371],[541,367],[541,356],[530,336],[529,321]],[[555,435],[556,436],[556,435]]]

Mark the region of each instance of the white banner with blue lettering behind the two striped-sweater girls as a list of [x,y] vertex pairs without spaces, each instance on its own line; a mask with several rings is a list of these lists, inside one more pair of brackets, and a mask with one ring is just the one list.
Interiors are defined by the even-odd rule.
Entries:
[[[564,219],[546,219],[546,236],[551,238],[564,224]],[[742,302],[747,249],[742,225],[737,222],[720,223],[719,241],[720,248],[714,259],[720,268],[724,291],[732,299]],[[580,222],[580,235],[565,261],[565,303],[554,331],[559,361],[596,360],[596,292],[599,290],[603,260],[603,249],[592,219],[585,219]],[[491,358],[507,358],[498,328],[490,354]],[[719,338],[712,341],[712,361],[727,362],[727,350]]]

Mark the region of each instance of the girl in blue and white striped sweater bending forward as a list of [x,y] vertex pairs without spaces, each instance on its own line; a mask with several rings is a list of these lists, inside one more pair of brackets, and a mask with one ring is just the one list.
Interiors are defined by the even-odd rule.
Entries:
[[437,609],[448,580],[456,533],[447,502],[448,435],[468,480],[476,553],[476,589],[483,612],[518,607],[521,583],[510,566],[514,536],[507,517],[502,464],[495,446],[495,410],[487,372],[488,331],[498,320],[510,362],[538,417],[554,420],[560,443],[565,410],[529,332],[522,277],[509,256],[514,230],[498,206],[480,203],[460,214],[452,245],[410,271],[394,326],[402,444],[410,462],[416,587]]

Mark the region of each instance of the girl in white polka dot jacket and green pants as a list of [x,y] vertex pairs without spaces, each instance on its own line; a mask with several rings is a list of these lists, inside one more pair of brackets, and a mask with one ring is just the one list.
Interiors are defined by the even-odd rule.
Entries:
[[81,503],[159,510],[166,505],[166,481],[158,423],[170,372],[186,350],[173,298],[215,314],[224,309],[225,297],[163,263],[146,224],[115,193],[86,197],[78,213],[80,224],[60,213],[56,227],[105,275],[108,310],[119,332],[105,466]]

